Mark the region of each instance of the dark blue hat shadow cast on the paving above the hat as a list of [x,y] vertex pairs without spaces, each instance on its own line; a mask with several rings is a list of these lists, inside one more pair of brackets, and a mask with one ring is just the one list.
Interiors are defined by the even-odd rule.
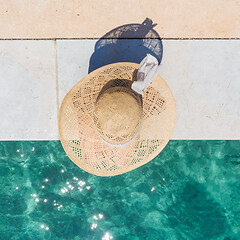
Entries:
[[148,53],[160,64],[163,45],[159,34],[153,29],[156,25],[146,18],[141,24],[126,24],[106,33],[95,44],[88,73],[116,62],[140,63]]

